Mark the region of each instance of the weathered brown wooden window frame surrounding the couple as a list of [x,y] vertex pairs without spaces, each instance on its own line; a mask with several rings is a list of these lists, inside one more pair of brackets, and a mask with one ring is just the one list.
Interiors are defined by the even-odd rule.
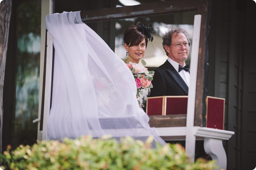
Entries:
[[[125,18],[154,16],[161,14],[174,14],[188,11],[197,11],[201,18],[200,43],[197,66],[197,86],[195,96],[194,126],[205,126],[205,98],[206,98],[206,71],[207,71],[207,30],[208,28],[208,0],[189,1],[164,1],[156,3],[140,4],[135,6],[124,6],[118,8],[103,8],[88,11],[81,11],[80,16],[84,23],[98,21],[110,21]],[[46,55],[46,54],[45,54]],[[46,62],[46,58],[44,60]],[[45,79],[46,66],[44,66]],[[42,94],[45,93],[45,82],[43,83]],[[42,96],[44,98],[44,96]],[[43,128],[44,100],[42,100],[40,118],[40,130]],[[171,123],[170,123],[171,120]],[[169,122],[169,123],[166,123]],[[186,115],[150,116],[152,127],[184,127],[186,126]],[[164,126],[166,125],[166,126]]]

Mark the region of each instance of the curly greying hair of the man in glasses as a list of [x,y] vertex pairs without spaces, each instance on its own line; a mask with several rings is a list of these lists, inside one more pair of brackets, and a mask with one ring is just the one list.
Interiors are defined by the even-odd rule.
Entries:
[[[172,42],[172,36],[174,33],[183,33],[185,34],[185,36],[187,37],[187,40],[188,42],[189,39],[188,39],[188,33],[187,31],[185,31],[183,28],[181,28],[180,26],[176,26],[176,27],[173,27],[172,29],[168,30],[165,35],[162,37],[162,40],[163,40],[163,48],[165,45],[167,45],[168,47],[171,45],[171,42]],[[166,52],[166,55],[168,56],[168,52],[165,50],[164,48],[164,51]]]

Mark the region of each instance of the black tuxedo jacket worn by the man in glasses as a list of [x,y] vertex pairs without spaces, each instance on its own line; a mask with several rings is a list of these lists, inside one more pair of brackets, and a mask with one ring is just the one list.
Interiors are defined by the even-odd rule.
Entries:
[[156,69],[153,76],[150,96],[188,96],[188,86],[173,65],[166,62]]

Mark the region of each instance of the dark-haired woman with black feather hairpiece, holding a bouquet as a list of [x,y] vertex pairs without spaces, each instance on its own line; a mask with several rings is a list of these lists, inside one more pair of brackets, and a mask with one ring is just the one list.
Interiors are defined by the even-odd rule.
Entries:
[[[153,41],[152,26],[145,26],[142,23],[131,25],[124,31],[124,47],[126,49],[127,64],[138,64],[140,59],[144,58],[148,39]],[[151,81],[150,81],[151,83]],[[137,96],[142,109],[146,112],[147,98],[150,94],[150,88],[143,88],[140,96]]]

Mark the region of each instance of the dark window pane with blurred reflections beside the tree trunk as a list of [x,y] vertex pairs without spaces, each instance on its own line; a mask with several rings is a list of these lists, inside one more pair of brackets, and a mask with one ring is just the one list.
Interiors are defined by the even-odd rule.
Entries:
[[16,6],[16,99],[11,145],[37,140],[39,102],[41,0],[17,1]]

